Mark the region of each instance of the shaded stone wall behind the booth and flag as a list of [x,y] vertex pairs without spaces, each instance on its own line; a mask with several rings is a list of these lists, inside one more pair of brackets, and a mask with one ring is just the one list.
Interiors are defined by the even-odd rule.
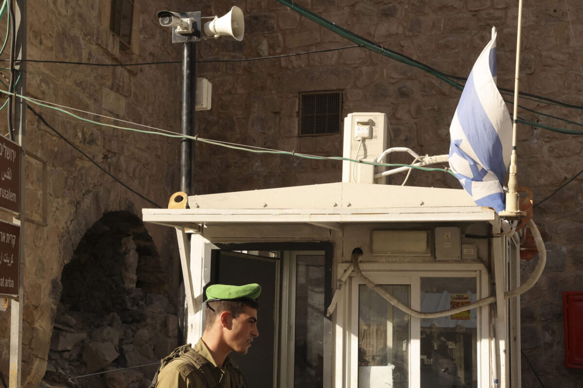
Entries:
[[[511,0],[303,0],[296,3],[384,47],[443,72],[468,76],[473,62],[498,29],[498,86],[514,89],[518,1]],[[223,15],[231,2],[194,2],[203,16]],[[298,16],[276,1],[238,2],[245,13],[245,38],[197,45],[199,59],[241,59],[352,45]],[[521,91],[575,105],[583,104],[583,3],[525,2]],[[573,33],[569,23],[573,22]],[[573,34],[575,40],[573,38]],[[575,47],[577,43],[577,47]],[[460,92],[419,69],[364,48],[252,62],[201,63],[198,76],[213,84],[213,108],[197,113],[201,137],[307,152],[342,155],[342,134],[298,136],[298,92],[343,90],[343,112],[387,113],[392,145],[420,154],[445,154],[449,123]],[[512,95],[505,95],[511,101]],[[578,109],[521,99],[528,109],[583,123]],[[512,112],[511,104],[508,104]],[[580,126],[519,110],[530,122],[570,130]],[[531,187],[535,203],[577,174],[582,165],[580,137],[518,125],[518,177]],[[197,194],[327,183],[341,179],[340,162],[293,156],[259,156],[212,145],[197,145]],[[409,162],[395,158],[394,162]],[[398,177],[395,183],[400,183]],[[413,172],[408,184],[459,187],[441,173]],[[581,177],[535,208],[549,250],[547,269],[522,296],[524,353],[546,386],[575,387],[582,371],[564,366],[563,291],[582,291],[583,200]],[[522,263],[522,279],[535,265]],[[522,358],[524,386],[537,386]]]

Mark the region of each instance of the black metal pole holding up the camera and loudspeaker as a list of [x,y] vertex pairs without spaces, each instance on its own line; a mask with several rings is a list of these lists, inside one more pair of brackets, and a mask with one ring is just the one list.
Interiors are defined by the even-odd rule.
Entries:
[[[193,107],[196,98],[196,47],[185,42],[182,51],[182,122],[181,133],[194,136]],[[180,191],[193,194],[194,140],[182,138],[180,143]]]

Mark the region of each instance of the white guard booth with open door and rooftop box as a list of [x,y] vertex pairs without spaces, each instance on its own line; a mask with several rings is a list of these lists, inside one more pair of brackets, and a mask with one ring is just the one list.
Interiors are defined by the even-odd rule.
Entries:
[[[349,115],[345,157],[378,160],[387,137],[381,113]],[[384,169],[343,163],[339,183],[143,209],[177,230],[188,343],[209,284],[259,283],[259,337],[232,356],[249,386],[519,387],[517,233],[462,189],[393,186]]]

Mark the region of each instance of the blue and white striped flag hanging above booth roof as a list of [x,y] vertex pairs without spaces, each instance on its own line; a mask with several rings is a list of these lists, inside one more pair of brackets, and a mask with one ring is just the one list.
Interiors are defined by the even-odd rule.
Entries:
[[449,166],[479,206],[504,210],[512,120],[496,87],[496,29],[477,58],[449,127]]

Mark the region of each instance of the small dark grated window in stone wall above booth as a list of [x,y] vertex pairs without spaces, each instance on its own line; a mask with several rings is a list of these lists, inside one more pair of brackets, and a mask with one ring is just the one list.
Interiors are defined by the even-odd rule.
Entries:
[[340,133],[342,92],[300,93],[300,136]]

